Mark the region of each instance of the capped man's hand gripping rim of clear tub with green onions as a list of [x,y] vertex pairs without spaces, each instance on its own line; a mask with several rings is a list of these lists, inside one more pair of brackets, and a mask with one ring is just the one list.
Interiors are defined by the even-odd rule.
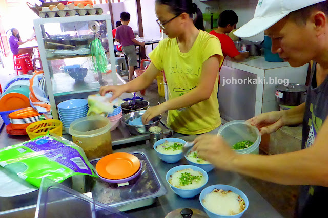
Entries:
[[257,115],[247,120],[251,125],[256,126],[260,134],[273,133],[284,125],[282,121],[284,111],[273,111]]

